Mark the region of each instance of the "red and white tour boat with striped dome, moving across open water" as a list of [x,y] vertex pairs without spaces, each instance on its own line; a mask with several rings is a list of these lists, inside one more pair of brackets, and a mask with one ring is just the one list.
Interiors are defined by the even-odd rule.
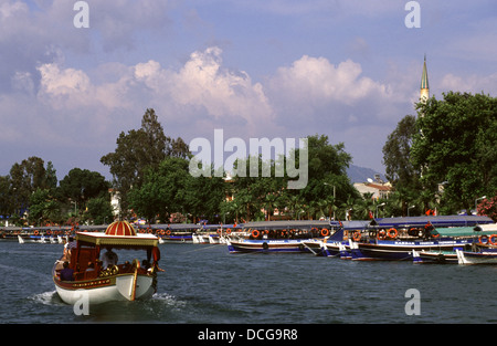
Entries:
[[[108,226],[105,233],[76,232],[75,242],[68,243],[64,255],[53,266],[52,276],[56,292],[63,302],[75,304],[87,294],[89,304],[109,301],[135,301],[149,298],[157,290],[157,271],[160,252],[157,248],[158,238],[154,234],[137,234],[134,227],[126,221],[116,221]],[[146,263],[141,265],[138,259],[133,263],[110,263],[105,265],[99,261],[101,252],[105,250],[140,250],[145,252]],[[61,280],[63,263],[74,272],[73,280]],[[117,261],[116,261],[117,262]],[[94,270],[91,264],[94,263]]]

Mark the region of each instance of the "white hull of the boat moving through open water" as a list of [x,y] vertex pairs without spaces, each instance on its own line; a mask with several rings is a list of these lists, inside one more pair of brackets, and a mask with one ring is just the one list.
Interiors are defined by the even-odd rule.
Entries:
[[74,305],[81,301],[83,294],[89,304],[102,304],[150,298],[156,292],[154,279],[152,275],[137,275],[135,294],[133,294],[135,286],[133,273],[72,282],[62,282],[59,277],[54,277],[54,283],[59,296],[66,304]]

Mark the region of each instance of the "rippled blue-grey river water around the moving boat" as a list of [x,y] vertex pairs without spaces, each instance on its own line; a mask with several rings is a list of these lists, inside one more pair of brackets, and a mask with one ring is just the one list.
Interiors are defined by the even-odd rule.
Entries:
[[[159,247],[166,272],[159,273],[151,300],[91,306],[89,315],[75,315],[51,277],[63,247],[2,241],[0,323],[497,322],[497,266],[230,254],[225,245],[211,244]],[[410,289],[419,300],[406,297]]]

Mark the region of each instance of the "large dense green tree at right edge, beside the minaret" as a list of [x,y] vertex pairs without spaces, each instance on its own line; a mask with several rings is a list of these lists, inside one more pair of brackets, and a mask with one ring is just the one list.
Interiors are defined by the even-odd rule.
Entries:
[[475,199],[497,191],[497,98],[448,92],[416,106],[417,133],[412,162],[422,169],[422,184],[435,199],[444,184],[444,212],[470,210]]

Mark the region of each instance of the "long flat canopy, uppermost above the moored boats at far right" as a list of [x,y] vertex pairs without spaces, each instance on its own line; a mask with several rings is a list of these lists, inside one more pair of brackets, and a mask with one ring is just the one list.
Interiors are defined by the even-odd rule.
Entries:
[[477,224],[494,223],[494,221],[484,216],[436,216],[436,217],[408,217],[408,218],[384,218],[373,219],[370,222],[372,228],[409,228],[424,227],[470,227]]

